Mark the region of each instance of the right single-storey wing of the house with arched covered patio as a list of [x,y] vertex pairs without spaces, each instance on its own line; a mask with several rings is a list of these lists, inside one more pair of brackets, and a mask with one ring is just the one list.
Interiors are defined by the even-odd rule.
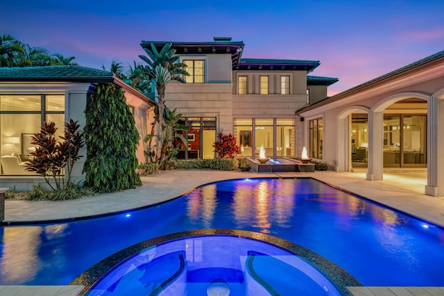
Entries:
[[[444,51],[296,110],[302,142],[338,172],[427,170],[444,196]],[[440,120],[441,119],[441,120]]]

